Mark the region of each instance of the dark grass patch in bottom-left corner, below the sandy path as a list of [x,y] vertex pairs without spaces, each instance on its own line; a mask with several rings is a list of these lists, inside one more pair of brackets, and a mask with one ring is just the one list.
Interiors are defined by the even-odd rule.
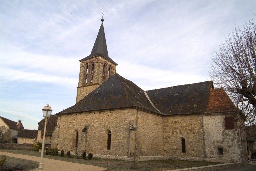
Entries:
[[[2,155],[0,155],[0,158],[1,157]],[[10,167],[15,166],[16,164],[20,164],[20,166],[24,168],[21,171],[32,170],[39,166],[38,162],[31,161],[31,160],[18,159],[18,158],[9,157],[9,156],[6,156],[5,164]]]

